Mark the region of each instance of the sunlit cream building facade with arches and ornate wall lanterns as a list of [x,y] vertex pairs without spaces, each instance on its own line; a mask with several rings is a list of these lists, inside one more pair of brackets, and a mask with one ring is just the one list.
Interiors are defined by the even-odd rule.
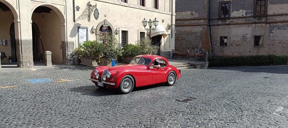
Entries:
[[118,38],[119,47],[149,39],[143,18],[159,20],[157,31],[151,31],[159,55],[170,58],[175,46],[175,35],[167,28],[175,24],[175,0],[0,0],[0,15],[0,52],[21,68],[34,67],[44,51],[52,52],[52,63],[73,65],[74,49],[107,31]]

